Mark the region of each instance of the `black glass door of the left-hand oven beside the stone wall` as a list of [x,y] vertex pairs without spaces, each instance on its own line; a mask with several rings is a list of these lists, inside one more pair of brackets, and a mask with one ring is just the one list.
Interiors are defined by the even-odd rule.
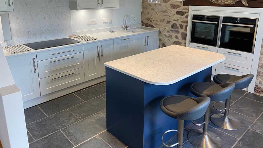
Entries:
[[191,42],[216,46],[218,35],[217,22],[192,22]]

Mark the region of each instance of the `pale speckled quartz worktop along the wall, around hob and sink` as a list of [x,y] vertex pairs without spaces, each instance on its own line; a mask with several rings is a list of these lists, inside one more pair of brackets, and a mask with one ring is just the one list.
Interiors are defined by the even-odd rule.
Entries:
[[[138,34],[159,31],[159,29],[149,28],[149,27],[129,28],[128,30],[132,30],[132,29],[143,29],[143,30],[147,30],[147,31],[140,31],[140,32],[136,32],[136,33],[128,32],[126,30],[116,30],[115,33],[110,33],[107,31],[107,32],[101,32],[101,33],[86,34],[87,36],[98,38],[98,40],[94,40],[94,41],[81,42],[81,43],[76,43],[76,44],[57,46],[57,47],[51,47],[51,48],[45,48],[45,49],[39,49],[39,50],[32,49],[29,52],[20,52],[20,53],[16,53],[16,54],[11,54],[10,52],[7,52],[6,50],[3,50],[3,51],[4,51],[5,57],[14,57],[14,56],[20,56],[20,55],[24,55],[24,54],[32,54],[32,53],[36,53],[36,52],[45,52],[48,50],[61,49],[61,48],[65,48],[65,47],[72,47],[72,46],[77,46],[77,45],[94,43],[94,42],[98,42],[98,41],[105,41],[105,40],[110,40],[110,39],[115,39],[115,38],[123,38],[126,36],[134,36],[134,35],[138,35]],[[73,39],[78,40],[76,38],[73,38]],[[82,40],[78,40],[78,41],[82,41]],[[22,44],[24,44],[24,43],[21,43],[21,45]]]

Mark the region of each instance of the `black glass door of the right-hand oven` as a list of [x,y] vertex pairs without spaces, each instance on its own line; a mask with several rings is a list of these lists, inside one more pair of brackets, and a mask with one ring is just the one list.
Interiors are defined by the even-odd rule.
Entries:
[[220,48],[252,53],[254,50],[255,25],[222,24]]

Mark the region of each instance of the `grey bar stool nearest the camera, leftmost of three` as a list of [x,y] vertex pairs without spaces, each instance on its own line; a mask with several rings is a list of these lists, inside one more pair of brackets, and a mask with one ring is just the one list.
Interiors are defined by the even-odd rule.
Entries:
[[[209,97],[192,98],[189,96],[168,96],[161,100],[160,108],[168,116],[178,119],[178,130],[168,130],[162,135],[162,142],[165,147],[177,148],[183,147],[184,120],[196,120],[201,118],[206,112],[210,104]],[[166,133],[177,131],[177,143],[166,145],[163,141],[163,136]]]

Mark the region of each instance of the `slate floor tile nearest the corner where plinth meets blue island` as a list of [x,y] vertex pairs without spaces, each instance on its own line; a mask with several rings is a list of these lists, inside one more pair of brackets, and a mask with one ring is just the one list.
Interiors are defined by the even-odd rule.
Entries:
[[103,84],[99,84],[88,89],[78,91],[75,94],[79,96],[81,99],[88,101],[97,96],[103,95],[106,93],[106,86]]

